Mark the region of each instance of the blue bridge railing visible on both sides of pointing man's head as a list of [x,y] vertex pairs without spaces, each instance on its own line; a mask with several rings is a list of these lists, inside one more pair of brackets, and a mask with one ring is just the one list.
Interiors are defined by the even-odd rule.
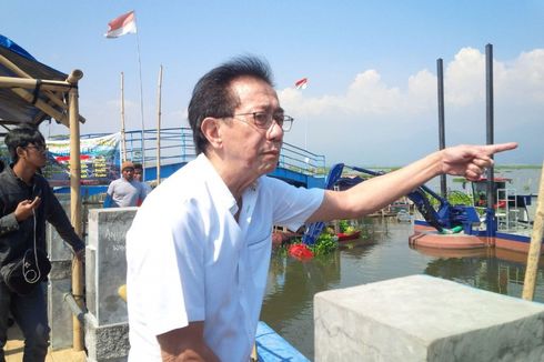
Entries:
[[[100,137],[101,134],[85,134],[83,137]],[[157,167],[158,137],[160,135],[161,165],[189,162],[197,157],[193,135],[190,128],[128,131],[125,132],[127,159],[144,163],[147,168]],[[142,144],[143,139],[143,144]],[[291,171],[304,174],[324,174],[325,157],[301,149],[291,143],[283,143],[278,164]]]

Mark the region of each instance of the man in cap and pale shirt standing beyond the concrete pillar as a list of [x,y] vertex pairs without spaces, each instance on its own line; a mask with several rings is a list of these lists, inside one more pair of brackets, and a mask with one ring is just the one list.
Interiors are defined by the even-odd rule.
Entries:
[[104,200],[104,208],[137,207],[145,199],[143,184],[134,179],[134,164],[124,161],[121,164],[121,178],[111,181]]

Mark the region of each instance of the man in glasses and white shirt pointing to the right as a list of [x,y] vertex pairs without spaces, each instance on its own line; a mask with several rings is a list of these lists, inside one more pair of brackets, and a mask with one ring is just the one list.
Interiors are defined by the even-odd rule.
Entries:
[[295,188],[266,177],[293,119],[253,57],[198,81],[189,122],[197,159],[153,190],[127,233],[132,362],[249,361],[272,225],[360,218],[442,173],[477,180],[491,154],[516,147],[447,148],[345,191]]

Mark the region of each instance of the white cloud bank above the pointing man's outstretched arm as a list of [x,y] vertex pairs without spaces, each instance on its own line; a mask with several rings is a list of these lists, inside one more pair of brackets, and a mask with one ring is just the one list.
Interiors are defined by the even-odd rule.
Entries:
[[[446,144],[485,143],[485,54],[463,48],[444,63]],[[542,162],[544,50],[495,59],[493,72],[495,141],[524,145],[505,160]],[[285,141],[308,140],[312,152],[331,162],[405,163],[437,148],[436,87],[436,74],[426,69],[397,84],[370,69],[355,74],[343,93],[310,97],[310,89],[283,89],[282,107],[298,120]]]

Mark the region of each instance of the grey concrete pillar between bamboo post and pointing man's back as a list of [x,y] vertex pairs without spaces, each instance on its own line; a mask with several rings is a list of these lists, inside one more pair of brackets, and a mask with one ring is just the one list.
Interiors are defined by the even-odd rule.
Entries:
[[88,361],[125,361],[130,349],[127,303],[118,289],[127,280],[125,234],[137,208],[89,211],[85,288]]

